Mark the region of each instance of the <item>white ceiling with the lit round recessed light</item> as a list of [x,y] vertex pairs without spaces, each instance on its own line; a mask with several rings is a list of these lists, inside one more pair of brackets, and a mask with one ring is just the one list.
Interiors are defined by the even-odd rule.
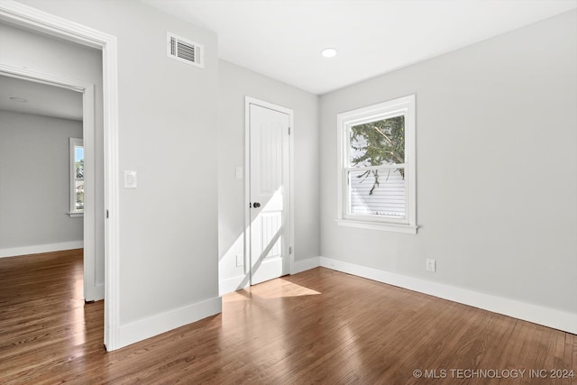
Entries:
[[[216,32],[221,59],[315,94],[577,7],[577,0],[142,1]],[[338,55],[321,57],[326,47]]]

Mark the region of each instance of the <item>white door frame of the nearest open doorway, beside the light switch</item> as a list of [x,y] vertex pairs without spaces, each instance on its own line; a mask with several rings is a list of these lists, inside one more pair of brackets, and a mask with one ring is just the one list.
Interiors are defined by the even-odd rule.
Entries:
[[118,69],[116,37],[14,0],[0,1],[0,20],[102,50],[105,163],[105,346],[120,347]]

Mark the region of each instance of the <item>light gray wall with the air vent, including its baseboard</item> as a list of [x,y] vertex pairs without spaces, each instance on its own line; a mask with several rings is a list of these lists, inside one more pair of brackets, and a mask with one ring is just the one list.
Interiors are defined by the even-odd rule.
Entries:
[[[120,344],[220,311],[215,34],[133,0],[22,3],[118,41],[120,173],[138,172],[120,191]],[[204,44],[205,69],[167,58],[167,31]]]

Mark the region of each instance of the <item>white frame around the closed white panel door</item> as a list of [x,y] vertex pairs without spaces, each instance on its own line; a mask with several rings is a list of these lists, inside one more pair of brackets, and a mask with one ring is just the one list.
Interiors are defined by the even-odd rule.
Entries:
[[[252,285],[251,274],[251,105],[259,105],[280,113],[289,115],[289,274],[294,271],[295,265],[295,194],[294,194],[294,112],[281,105],[257,99],[252,96],[244,96],[244,275],[249,277],[249,285]],[[247,263],[247,261],[249,263]]]

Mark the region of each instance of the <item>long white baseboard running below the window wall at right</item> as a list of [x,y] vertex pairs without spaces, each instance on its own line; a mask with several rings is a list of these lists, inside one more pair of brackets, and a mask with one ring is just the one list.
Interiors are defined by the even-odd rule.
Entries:
[[577,314],[321,257],[322,267],[577,334]]

